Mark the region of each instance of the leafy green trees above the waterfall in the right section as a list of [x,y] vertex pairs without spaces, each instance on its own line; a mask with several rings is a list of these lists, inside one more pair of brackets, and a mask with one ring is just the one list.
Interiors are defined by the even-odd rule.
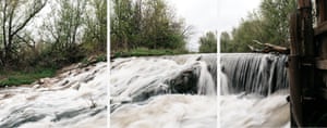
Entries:
[[257,46],[253,40],[288,47],[290,36],[287,17],[294,10],[295,0],[264,0],[257,12],[249,13],[247,18],[233,29],[231,40],[221,51],[250,52],[249,46]]

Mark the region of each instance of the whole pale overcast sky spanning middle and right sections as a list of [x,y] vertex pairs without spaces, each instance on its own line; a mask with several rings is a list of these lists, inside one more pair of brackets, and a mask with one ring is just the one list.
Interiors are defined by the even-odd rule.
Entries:
[[262,0],[167,0],[179,17],[194,26],[187,48],[198,49],[198,38],[206,31],[231,31]]

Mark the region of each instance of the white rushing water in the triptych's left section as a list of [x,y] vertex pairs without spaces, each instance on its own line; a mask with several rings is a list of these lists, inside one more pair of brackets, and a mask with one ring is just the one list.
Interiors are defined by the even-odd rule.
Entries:
[[106,63],[0,90],[0,128],[106,128]]

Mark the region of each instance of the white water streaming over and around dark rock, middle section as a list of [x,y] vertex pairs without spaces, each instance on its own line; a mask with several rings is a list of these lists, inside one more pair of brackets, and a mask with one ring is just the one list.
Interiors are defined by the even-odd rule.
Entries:
[[196,61],[199,55],[164,57],[117,59],[111,64],[110,95],[117,99],[131,99],[146,89],[167,89],[167,79],[174,78],[183,71],[199,67],[198,93],[215,95],[214,78],[207,64]]

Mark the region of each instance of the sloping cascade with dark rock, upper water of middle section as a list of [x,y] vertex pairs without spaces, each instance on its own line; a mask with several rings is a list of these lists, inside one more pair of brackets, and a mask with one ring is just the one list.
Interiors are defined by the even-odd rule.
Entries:
[[[118,59],[111,65],[111,100],[144,101],[164,93],[215,94],[216,63],[207,64],[204,61],[209,56]],[[216,57],[210,59],[216,62]]]

